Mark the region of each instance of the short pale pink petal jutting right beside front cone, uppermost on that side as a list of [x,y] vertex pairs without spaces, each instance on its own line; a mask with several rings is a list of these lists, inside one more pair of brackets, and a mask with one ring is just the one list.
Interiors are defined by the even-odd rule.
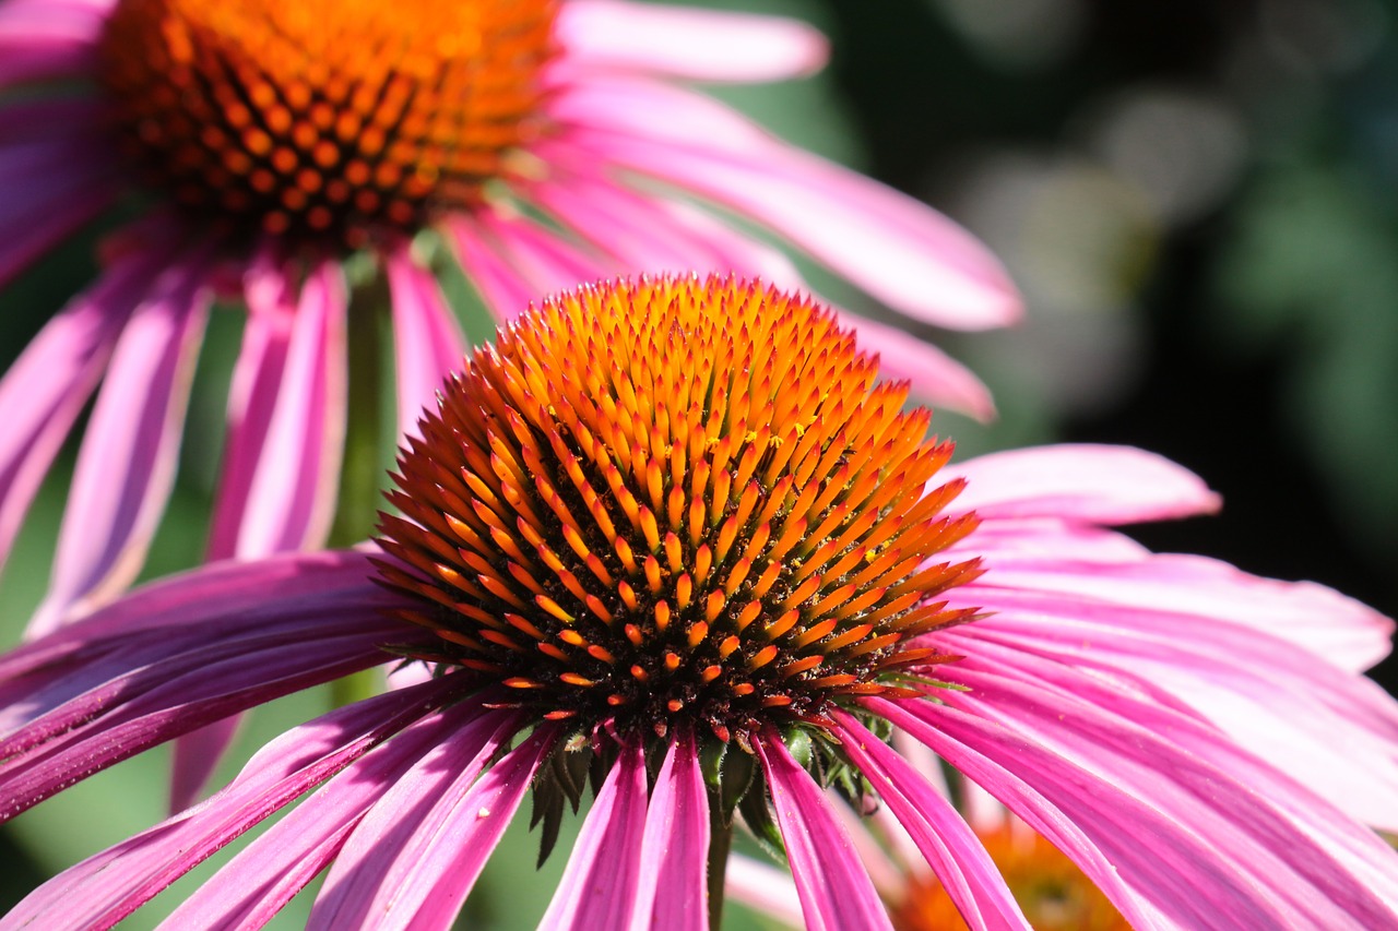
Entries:
[[981,519],[1057,517],[1130,524],[1209,514],[1219,496],[1194,472],[1128,446],[1043,446],[955,463],[937,482],[965,478],[952,505]]

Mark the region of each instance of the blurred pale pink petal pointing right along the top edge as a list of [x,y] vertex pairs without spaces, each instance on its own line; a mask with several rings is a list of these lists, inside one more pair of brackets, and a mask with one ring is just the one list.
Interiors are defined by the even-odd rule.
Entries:
[[555,36],[569,66],[693,81],[777,81],[825,64],[825,36],[797,20],[621,0],[573,0]]

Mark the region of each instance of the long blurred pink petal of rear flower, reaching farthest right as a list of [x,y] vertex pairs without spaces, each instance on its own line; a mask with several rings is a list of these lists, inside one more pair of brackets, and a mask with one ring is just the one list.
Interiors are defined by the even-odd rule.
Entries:
[[702,194],[927,323],[984,329],[1019,315],[1000,263],[965,229],[906,194],[779,143],[714,101],[610,80],[577,82],[549,109],[566,131],[535,145],[545,161],[586,152]]

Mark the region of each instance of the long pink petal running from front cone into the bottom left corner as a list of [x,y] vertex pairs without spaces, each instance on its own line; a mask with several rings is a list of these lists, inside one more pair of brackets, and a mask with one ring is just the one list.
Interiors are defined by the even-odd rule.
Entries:
[[292,728],[259,751],[217,795],[66,869],[35,889],[6,921],[15,927],[108,927],[120,921],[229,840],[452,695],[452,684],[433,682]]

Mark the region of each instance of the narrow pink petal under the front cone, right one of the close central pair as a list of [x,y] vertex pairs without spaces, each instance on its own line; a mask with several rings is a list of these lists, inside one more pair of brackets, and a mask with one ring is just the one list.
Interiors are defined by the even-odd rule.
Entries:
[[709,797],[693,737],[671,739],[656,776],[640,844],[632,931],[709,927]]

